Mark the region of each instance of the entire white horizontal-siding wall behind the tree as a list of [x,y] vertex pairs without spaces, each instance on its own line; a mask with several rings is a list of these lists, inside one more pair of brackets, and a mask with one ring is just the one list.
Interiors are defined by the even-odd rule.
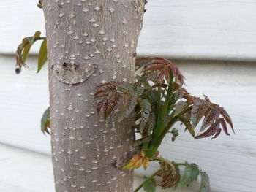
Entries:
[[[20,40],[44,31],[42,10],[36,4],[0,1],[0,191],[4,192],[53,192],[50,138],[39,129],[48,107],[48,72],[44,68],[36,74],[35,56],[27,62],[29,69],[20,75],[14,72],[13,53]],[[187,78],[187,89],[224,106],[236,128],[236,135],[222,133],[213,141],[195,140],[180,131],[176,142],[165,139],[162,155],[199,164],[210,175],[213,192],[255,191],[256,0],[148,0],[147,8],[138,55],[170,58]],[[156,167],[151,165],[150,172]],[[143,169],[135,173],[144,175]],[[197,187],[198,182],[181,191]]]

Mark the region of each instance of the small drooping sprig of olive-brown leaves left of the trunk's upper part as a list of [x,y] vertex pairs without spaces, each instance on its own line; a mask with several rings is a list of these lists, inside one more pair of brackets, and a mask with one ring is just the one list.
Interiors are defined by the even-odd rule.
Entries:
[[26,59],[28,58],[29,51],[31,49],[31,46],[34,45],[35,42],[38,40],[42,40],[42,44],[39,50],[38,54],[38,65],[37,65],[37,73],[42,69],[42,66],[47,61],[47,46],[46,46],[46,38],[40,37],[41,32],[36,31],[34,33],[34,36],[31,37],[25,37],[23,41],[18,45],[18,48],[16,50],[16,66],[18,68],[16,69],[16,72],[19,73],[22,66],[26,67]]

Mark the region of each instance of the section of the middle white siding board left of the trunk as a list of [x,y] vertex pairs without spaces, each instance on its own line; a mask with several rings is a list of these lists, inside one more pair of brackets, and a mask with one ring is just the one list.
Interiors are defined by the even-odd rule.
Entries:
[[50,137],[40,131],[42,113],[49,106],[48,72],[36,74],[36,64],[29,60],[29,69],[18,75],[15,58],[0,56],[0,142],[50,154]]

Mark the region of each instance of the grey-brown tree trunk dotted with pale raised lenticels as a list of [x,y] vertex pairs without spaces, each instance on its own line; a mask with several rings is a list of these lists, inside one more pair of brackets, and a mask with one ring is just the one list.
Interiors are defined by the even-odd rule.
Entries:
[[134,80],[145,0],[44,0],[50,127],[57,192],[132,191],[121,170],[135,139],[132,118],[97,115],[100,83]]

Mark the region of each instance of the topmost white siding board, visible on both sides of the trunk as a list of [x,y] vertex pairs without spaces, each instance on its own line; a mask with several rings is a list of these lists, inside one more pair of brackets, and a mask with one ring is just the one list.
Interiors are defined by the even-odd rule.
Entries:
[[[0,1],[0,53],[14,53],[34,31],[44,34],[42,10],[36,4]],[[157,0],[148,1],[146,8],[139,55],[256,61],[254,0]]]

